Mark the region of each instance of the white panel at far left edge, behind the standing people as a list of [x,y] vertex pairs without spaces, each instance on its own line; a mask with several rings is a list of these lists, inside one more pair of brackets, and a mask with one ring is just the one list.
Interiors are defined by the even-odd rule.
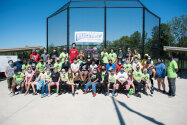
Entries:
[[1,55],[0,56],[0,72],[5,72],[6,66],[8,66],[8,61],[13,60],[17,61],[17,56]]

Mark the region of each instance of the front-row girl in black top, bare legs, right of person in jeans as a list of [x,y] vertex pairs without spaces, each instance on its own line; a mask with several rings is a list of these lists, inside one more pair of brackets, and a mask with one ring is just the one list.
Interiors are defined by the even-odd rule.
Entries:
[[59,96],[59,82],[60,82],[60,73],[58,72],[57,68],[54,68],[53,73],[51,74],[50,83],[48,84],[48,96],[51,96],[51,87],[57,87],[56,96]]

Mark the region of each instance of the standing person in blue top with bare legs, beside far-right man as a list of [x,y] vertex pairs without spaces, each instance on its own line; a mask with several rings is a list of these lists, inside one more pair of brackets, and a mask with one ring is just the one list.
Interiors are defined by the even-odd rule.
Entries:
[[155,64],[155,69],[156,69],[156,79],[158,83],[158,91],[160,92],[160,84],[161,84],[163,88],[163,93],[165,93],[166,91],[165,91],[164,79],[166,76],[166,66],[160,58],[157,59],[157,63]]

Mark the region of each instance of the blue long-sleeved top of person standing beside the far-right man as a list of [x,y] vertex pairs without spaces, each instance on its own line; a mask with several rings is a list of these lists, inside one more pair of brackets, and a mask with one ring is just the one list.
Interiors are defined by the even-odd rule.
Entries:
[[155,64],[156,69],[156,77],[164,78],[166,76],[166,66],[164,63],[157,63]]

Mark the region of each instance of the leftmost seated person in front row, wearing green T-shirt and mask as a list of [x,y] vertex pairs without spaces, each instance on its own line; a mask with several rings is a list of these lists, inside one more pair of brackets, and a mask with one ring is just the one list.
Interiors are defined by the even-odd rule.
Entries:
[[25,80],[25,75],[20,72],[18,69],[15,70],[15,74],[13,75],[13,84],[12,84],[12,95],[15,95],[15,88],[16,86],[20,86],[21,87],[21,91],[20,93],[23,92],[24,90],[24,80]]

